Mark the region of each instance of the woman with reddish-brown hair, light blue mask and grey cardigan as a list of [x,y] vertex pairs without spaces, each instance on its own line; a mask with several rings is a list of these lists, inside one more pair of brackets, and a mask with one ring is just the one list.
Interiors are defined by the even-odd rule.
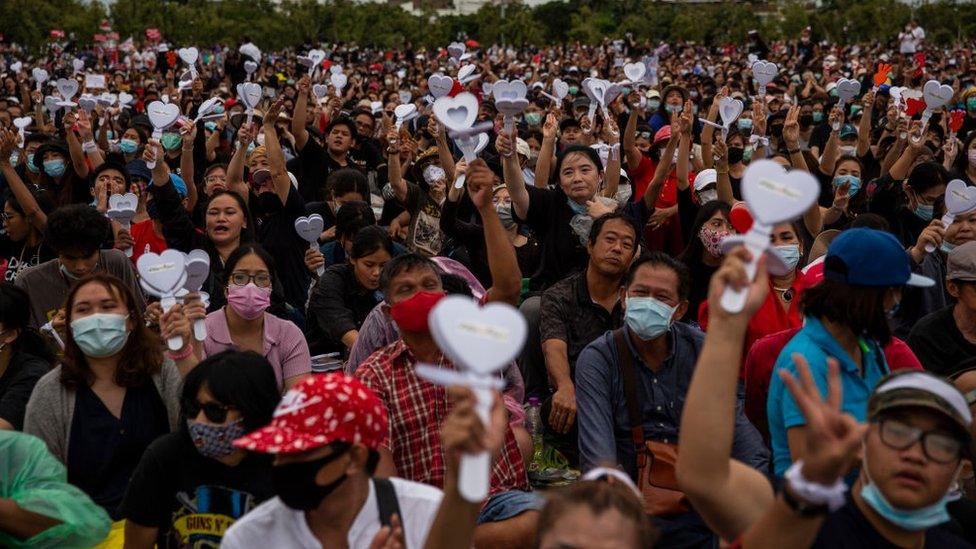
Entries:
[[119,279],[95,274],[68,294],[64,359],[37,382],[24,431],[40,437],[113,520],[146,447],[176,427],[179,370]]

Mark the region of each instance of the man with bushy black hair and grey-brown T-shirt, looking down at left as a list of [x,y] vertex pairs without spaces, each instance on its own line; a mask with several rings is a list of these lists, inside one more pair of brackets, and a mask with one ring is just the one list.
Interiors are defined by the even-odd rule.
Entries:
[[58,257],[24,271],[16,282],[30,296],[32,327],[52,320],[71,285],[96,271],[118,277],[132,291],[136,305],[146,308],[132,262],[120,250],[101,249],[111,235],[108,219],[88,205],[62,206],[48,216],[44,241]]

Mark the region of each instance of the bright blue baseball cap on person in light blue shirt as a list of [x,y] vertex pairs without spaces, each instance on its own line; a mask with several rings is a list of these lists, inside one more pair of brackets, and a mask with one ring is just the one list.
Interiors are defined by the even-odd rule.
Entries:
[[931,278],[912,273],[910,261],[891,233],[848,229],[827,248],[824,278],[852,286],[934,286]]

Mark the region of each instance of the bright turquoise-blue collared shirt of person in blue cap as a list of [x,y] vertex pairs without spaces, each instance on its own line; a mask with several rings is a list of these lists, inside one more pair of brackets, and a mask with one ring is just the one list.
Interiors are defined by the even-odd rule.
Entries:
[[794,353],[803,355],[810,364],[810,374],[820,394],[826,395],[827,358],[834,357],[840,364],[841,388],[844,394],[841,409],[858,421],[866,421],[868,398],[878,381],[888,373],[888,363],[877,341],[868,338],[863,338],[862,341],[864,345],[861,346],[861,362],[864,365],[864,375],[861,375],[861,368],[854,362],[853,357],[840,346],[834,336],[830,335],[823,323],[812,316],[804,319],[803,328],[793,336],[786,347],[783,347],[773,366],[769,397],[766,400],[769,436],[773,447],[773,467],[777,477],[783,476],[793,463],[786,432],[791,427],[806,425],[803,413],[790,395],[786,384],[779,377],[779,370],[786,369],[793,377],[799,379],[800,374],[793,364],[792,357]]

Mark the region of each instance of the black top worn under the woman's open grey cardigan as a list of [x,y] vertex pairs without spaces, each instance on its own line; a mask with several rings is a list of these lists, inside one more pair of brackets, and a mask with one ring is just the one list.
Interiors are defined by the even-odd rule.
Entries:
[[68,436],[68,482],[119,520],[129,477],[149,444],[168,432],[166,406],[151,381],[126,390],[121,418],[90,387],[82,387]]

